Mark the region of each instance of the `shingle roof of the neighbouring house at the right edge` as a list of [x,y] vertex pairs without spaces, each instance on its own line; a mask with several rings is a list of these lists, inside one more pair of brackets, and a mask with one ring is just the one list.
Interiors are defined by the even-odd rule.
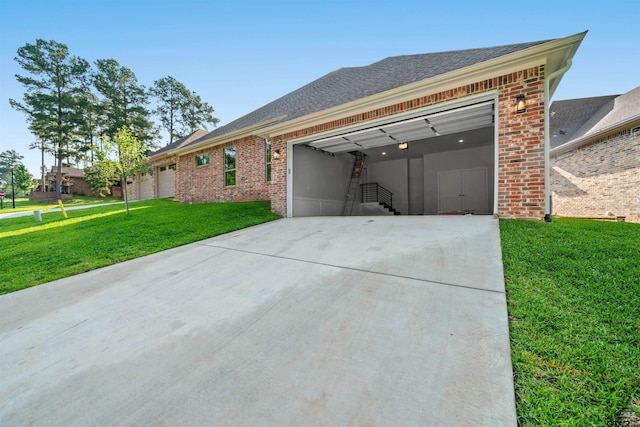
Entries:
[[556,101],[550,110],[555,113],[549,124],[551,148],[555,148],[640,117],[640,86],[622,95]]

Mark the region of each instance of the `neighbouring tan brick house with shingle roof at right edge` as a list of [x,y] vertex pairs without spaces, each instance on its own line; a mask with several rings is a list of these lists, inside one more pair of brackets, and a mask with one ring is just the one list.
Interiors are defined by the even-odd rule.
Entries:
[[553,214],[640,222],[640,87],[551,114]]

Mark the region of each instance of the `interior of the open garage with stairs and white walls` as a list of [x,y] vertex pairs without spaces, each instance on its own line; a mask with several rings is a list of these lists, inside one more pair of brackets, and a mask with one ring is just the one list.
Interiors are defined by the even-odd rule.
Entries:
[[293,216],[493,213],[493,100],[390,118],[292,148]]

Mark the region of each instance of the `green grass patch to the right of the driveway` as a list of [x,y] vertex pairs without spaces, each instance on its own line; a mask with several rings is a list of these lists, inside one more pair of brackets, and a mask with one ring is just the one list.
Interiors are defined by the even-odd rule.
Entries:
[[500,232],[519,424],[640,425],[640,224]]

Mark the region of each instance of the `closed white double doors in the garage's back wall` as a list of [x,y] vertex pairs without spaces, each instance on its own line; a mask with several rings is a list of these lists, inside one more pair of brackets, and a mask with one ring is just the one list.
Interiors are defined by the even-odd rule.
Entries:
[[438,212],[488,214],[487,168],[438,172]]

